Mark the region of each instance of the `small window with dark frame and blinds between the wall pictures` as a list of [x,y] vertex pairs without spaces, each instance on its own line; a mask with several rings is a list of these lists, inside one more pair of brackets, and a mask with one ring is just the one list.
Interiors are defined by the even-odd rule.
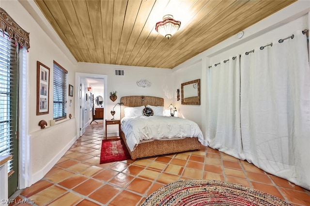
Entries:
[[53,67],[54,86],[53,86],[53,119],[56,121],[67,117],[67,74],[60,64],[54,61]]

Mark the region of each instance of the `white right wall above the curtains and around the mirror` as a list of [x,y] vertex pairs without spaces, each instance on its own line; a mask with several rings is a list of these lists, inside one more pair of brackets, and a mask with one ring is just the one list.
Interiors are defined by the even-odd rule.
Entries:
[[[309,19],[308,12],[310,12],[310,1],[298,0],[279,12],[245,29],[243,38],[238,39],[237,36],[234,35],[172,69],[175,75],[174,87],[181,87],[180,82],[177,81],[177,78],[179,78],[178,73],[182,74],[182,76],[192,76],[193,74],[190,68],[195,68],[195,71],[201,71],[201,106],[191,108],[191,112],[193,114],[202,113],[202,115],[193,116],[192,120],[198,123],[202,122],[201,128],[204,136],[208,130],[208,66],[220,60],[228,59],[230,56],[250,51],[257,46],[260,47],[269,44],[274,40],[278,41],[281,38],[289,36],[294,30],[308,29],[310,27],[309,23],[305,24],[303,20],[294,21],[304,15],[306,15],[302,17],[304,20]],[[289,24],[285,25],[287,23]],[[199,65],[197,62],[202,63]],[[194,78],[192,80],[194,80]],[[184,107],[181,107],[183,110]]]

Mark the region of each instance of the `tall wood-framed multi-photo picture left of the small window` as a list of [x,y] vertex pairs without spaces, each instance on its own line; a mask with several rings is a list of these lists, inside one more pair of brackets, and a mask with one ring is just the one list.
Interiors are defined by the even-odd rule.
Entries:
[[37,61],[37,115],[48,114],[49,68]]

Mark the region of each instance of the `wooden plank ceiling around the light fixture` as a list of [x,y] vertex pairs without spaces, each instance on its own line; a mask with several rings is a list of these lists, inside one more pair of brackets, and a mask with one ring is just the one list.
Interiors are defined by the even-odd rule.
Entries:
[[[79,62],[174,68],[295,0],[35,0]],[[164,15],[181,21],[167,39]]]

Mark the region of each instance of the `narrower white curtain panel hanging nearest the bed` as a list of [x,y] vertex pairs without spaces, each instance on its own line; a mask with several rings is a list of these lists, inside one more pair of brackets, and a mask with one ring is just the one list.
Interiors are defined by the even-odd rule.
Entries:
[[207,143],[209,147],[244,160],[240,132],[239,67],[238,55],[210,69]]

